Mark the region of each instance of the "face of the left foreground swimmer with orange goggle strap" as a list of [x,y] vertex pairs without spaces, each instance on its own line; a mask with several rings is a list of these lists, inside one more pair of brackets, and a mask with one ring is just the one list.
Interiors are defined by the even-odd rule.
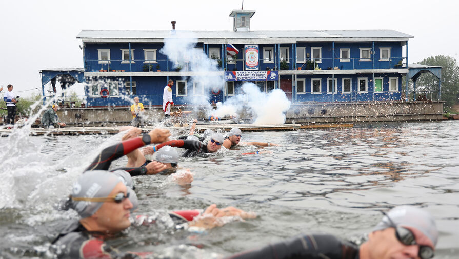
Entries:
[[[116,196],[116,194],[120,192],[124,193],[124,196],[126,196],[128,192],[126,185],[122,182],[119,182],[115,188],[113,188],[108,197]],[[125,198],[121,203],[104,202],[101,208],[91,217],[95,217],[99,228],[98,231],[119,232],[131,226],[129,217],[132,207],[129,198]]]

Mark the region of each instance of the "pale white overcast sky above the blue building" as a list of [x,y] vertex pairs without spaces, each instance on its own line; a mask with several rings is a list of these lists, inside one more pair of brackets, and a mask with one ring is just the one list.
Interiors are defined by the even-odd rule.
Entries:
[[[0,84],[18,95],[41,94],[38,71],[83,67],[76,35],[89,30],[232,30],[241,0],[0,1]],[[392,29],[414,36],[409,63],[435,55],[458,59],[457,1],[255,1],[251,30]],[[38,88],[26,92],[19,91]],[[5,90],[4,90],[5,91]]]

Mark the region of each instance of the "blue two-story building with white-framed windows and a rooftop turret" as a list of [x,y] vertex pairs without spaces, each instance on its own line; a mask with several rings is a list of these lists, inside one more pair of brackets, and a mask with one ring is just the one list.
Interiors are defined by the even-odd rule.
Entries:
[[[225,102],[247,81],[262,92],[280,88],[293,104],[407,101],[402,89],[408,82],[402,82],[402,76],[409,72],[408,40],[413,36],[394,30],[251,31],[254,13],[233,10],[232,31],[191,32],[196,37],[194,49],[218,66],[205,76],[229,78],[247,71],[275,76],[242,76],[211,88],[195,79],[203,74],[190,67],[193,54],[185,54],[177,65],[161,51],[174,29],[81,31],[77,38],[83,43],[84,72],[76,79],[87,83],[86,106],[123,107],[139,96],[145,105],[159,107],[169,79],[174,81],[178,105],[190,105],[190,98],[199,96]],[[239,52],[229,55],[228,44]],[[249,64],[252,58],[255,67]]]

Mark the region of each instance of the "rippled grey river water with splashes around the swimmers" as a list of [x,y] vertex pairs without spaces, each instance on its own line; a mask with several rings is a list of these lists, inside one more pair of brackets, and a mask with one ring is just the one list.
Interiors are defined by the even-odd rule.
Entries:
[[[459,122],[361,124],[344,129],[244,132],[242,141],[270,141],[272,154],[221,151],[185,158],[190,186],[170,176],[135,178],[140,214],[216,203],[258,214],[204,234],[161,226],[131,228],[113,246],[124,251],[207,258],[229,255],[304,232],[357,238],[380,210],[411,204],[430,211],[440,230],[435,258],[459,253]],[[54,204],[114,136],[3,137],[0,176],[0,257],[45,257],[49,242],[71,218]],[[179,133],[175,133],[179,134]],[[123,166],[122,158],[114,166]],[[184,246],[187,245],[187,246]],[[202,249],[194,246],[198,245]]]

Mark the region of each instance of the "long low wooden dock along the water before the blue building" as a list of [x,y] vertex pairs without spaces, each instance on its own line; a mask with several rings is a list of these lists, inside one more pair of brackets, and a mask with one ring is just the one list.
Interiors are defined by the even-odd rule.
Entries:
[[[271,125],[255,125],[255,124],[197,124],[196,131],[203,132],[206,129],[221,129],[229,131],[233,127],[238,127],[242,131],[284,131],[284,130],[301,130],[301,129],[321,129],[321,128],[343,128],[352,127],[353,124],[271,124]],[[146,126],[143,131],[150,131],[156,126]],[[186,127],[166,127],[173,130],[189,130],[190,125]],[[0,136],[8,136],[12,129],[0,130]],[[91,134],[116,134],[119,132],[119,126],[111,127],[65,127],[55,129],[30,129],[30,135],[91,135]]]

